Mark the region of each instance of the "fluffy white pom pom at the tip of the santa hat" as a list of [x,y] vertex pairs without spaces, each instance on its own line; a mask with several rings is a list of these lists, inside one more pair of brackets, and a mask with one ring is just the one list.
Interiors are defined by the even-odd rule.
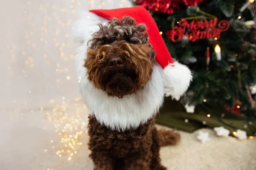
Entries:
[[163,70],[163,83],[166,96],[179,99],[192,81],[192,73],[186,65],[174,62]]

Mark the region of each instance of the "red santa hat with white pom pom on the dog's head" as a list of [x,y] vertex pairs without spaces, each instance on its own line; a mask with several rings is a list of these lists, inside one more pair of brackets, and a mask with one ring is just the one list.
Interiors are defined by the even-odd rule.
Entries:
[[189,87],[192,81],[192,74],[189,68],[179,62],[174,62],[166,48],[162,36],[157,28],[151,14],[142,6],[117,9],[97,9],[90,10],[86,14],[81,14],[81,19],[76,22],[73,29],[76,29],[75,36],[87,44],[91,39],[93,32],[99,30],[97,24],[107,24],[108,20],[116,17],[122,20],[122,17],[131,16],[137,24],[144,23],[148,30],[149,43],[156,51],[156,61],[163,68],[163,83],[166,96],[179,98]]

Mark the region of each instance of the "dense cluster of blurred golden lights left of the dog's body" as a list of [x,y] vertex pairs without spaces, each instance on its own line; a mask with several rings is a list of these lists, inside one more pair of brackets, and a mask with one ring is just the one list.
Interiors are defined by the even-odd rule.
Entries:
[[[56,141],[58,144],[55,145],[57,147],[52,147],[55,150],[53,153],[56,153],[55,156],[64,157],[67,161],[71,161],[72,156],[77,153],[77,150],[83,144],[80,137],[84,130],[87,132],[87,129],[84,129],[86,122],[81,119],[84,104],[78,107],[79,102],[83,103],[81,98],[75,98],[71,101],[73,106],[76,106],[75,117],[68,116],[70,102],[65,99],[66,97],[62,96],[62,104],[56,104],[52,109],[49,109],[46,116],[49,122],[53,123],[56,128],[56,135],[59,136],[59,140]],[[50,102],[54,102],[54,99],[51,99]],[[50,140],[50,142],[53,143],[53,140]]]

